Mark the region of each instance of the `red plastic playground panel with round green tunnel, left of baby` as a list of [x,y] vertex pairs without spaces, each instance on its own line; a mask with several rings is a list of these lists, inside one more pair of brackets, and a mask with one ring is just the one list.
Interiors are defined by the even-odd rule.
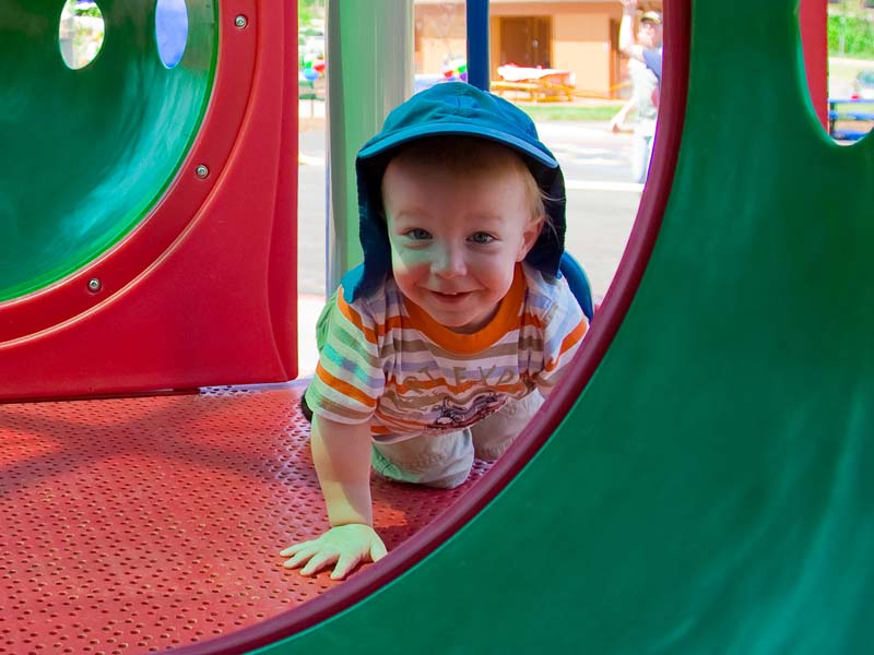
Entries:
[[102,0],[71,70],[57,2],[3,4],[0,400],[296,376],[295,8],[187,7],[174,68]]

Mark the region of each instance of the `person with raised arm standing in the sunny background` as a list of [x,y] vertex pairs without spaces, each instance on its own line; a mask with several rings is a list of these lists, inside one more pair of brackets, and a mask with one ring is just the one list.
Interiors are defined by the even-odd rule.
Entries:
[[656,121],[659,114],[659,90],[662,75],[662,16],[647,11],[640,16],[635,34],[637,0],[621,0],[623,4],[619,24],[619,51],[628,57],[628,74],[631,78],[631,97],[613,117],[610,127],[615,132],[622,129],[627,115],[634,110],[636,123],[631,150],[631,177],[646,182],[649,172],[652,146],[656,140]]

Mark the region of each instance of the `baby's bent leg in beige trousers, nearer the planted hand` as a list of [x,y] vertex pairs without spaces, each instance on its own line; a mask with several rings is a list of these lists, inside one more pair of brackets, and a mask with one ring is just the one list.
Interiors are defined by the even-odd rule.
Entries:
[[468,479],[473,466],[471,431],[374,443],[370,461],[390,480],[452,489]]

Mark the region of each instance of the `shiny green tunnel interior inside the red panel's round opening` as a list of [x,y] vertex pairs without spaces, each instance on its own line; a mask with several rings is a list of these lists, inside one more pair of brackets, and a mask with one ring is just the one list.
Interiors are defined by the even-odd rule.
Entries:
[[187,2],[192,31],[174,68],[143,28],[155,2],[98,8],[113,57],[72,70],[58,48],[63,2],[0,2],[0,301],[63,278],[140,224],[205,110],[212,0]]

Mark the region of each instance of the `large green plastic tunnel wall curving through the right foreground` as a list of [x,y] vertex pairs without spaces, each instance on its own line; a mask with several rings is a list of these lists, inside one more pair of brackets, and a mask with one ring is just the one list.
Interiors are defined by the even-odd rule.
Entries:
[[676,168],[572,408],[436,551],[260,653],[870,652],[874,140],[817,121],[796,4],[665,2]]

